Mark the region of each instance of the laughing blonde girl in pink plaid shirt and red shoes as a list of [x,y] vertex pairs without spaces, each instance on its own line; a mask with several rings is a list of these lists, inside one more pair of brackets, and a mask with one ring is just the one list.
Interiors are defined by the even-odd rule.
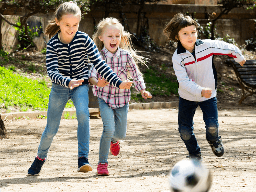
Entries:
[[[152,98],[145,91],[145,83],[138,68],[138,63],[145,64],[146,58],[138,56],[134,51],[130,34],[115,18],[105,18],[97,26],[92,38],[102,59],[123,80],[131,76],[137,91],[144,99]],[[119,154],[119,141],[126,136],[127,113],[131,92],[128,89],[118,89],[100,79],[95,67],[89,70],[89,82],[94,84],[93,92],[98,97],[100,115],[103,122],[103,132],[100,138],[98,175],[108,175],[108,151],[114,156]]]

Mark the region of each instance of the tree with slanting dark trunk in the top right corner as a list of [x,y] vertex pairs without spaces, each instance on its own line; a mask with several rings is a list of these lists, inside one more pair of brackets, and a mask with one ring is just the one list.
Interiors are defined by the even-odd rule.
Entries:
[[214,39],[214,28],[216,20],[220,19],[222,15],[228,14],[232,9],[244,7],[245,9],[255,7],[255,0],[217,0],[220,8],[220,14],[212,19],[211,25],[211,39]]

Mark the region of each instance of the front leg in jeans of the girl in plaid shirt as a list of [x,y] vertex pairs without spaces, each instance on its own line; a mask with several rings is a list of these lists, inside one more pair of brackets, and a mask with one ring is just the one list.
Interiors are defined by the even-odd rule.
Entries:
[[98,99],[103,122],[103,132],[100,138],[99,163],[108,163],[110,140],[115,132],[114,110],[102,99]]

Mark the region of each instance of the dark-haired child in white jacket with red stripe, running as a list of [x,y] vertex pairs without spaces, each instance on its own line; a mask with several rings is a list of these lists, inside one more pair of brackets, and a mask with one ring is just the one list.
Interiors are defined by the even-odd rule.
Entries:
[[197,39],[197,23],[190,16],[176,14],[164,29],[169,40],[178,42],[172,56],[173,68],[179,84],[179,132],[189,156],[202,161],[201,149],[193,133],[193,116],[199,105],[205,122],[206,140],[215,156],[222,156],[224,148],[219,136],[217,111],[217,72],[214,55],[233,57],[241,66],[245,59],[234,45],[216,40]]

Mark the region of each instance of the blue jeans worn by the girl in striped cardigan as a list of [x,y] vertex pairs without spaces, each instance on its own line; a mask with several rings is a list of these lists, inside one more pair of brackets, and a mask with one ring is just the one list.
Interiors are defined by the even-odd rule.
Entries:
[[89,86],[84,84],[70,90],[58,84],[52,84],[47,109],[47,123],[37,152],[39,158],[46,158],[53,137],[59,130],[61,115],[69,99],[73,101],[76,107],[78,158],[82,156],[88,158],[90,140]]

